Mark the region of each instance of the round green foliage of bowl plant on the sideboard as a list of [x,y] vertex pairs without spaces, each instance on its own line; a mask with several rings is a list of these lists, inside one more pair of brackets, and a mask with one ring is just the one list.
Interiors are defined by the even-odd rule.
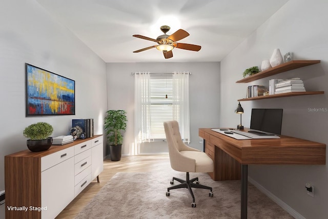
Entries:
[[48,138],[52,132],[53,128],[50,124],[39,122],[26,127],[23,131],[23,135],[31,140],[43,140]]

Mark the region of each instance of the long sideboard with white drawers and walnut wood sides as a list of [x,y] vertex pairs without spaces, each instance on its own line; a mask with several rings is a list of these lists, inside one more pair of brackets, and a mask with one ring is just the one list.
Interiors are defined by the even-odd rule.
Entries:
[[55,218],[103,169],[103,135],[6,155],[6,206],[35,208],[6,207],[6,218]]

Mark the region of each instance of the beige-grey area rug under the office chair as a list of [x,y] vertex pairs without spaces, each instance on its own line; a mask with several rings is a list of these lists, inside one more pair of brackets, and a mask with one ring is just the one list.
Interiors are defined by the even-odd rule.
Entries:
[[[166,196],[173,176],[186,174],[116,173],[76,218],[240,218],[240,181],[215,182],[207,173],[190,173],[214,192],[210,197],[209,190],[193,189],[197,207],[192,208],[188,189]],[[255,186],[250,184],[248,192],[248,218],[293,218]]]

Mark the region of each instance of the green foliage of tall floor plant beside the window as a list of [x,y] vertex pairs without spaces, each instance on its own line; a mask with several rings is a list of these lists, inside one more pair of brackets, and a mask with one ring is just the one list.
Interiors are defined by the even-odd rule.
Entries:
[[125,110],[108,110],[105,117],[105,131],[109,145],[122,144],[121,131],[127,129],[127,112]]

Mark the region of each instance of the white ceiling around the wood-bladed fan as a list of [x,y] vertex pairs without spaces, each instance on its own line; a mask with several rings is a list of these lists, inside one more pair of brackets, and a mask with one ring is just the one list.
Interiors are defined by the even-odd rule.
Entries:
[[[36,0],[106,63],[218,62],[288,0]],[[156,43],[168,25],[190,36],[180,43],[201,46],[198,52],[173,49],[165,59]]]

